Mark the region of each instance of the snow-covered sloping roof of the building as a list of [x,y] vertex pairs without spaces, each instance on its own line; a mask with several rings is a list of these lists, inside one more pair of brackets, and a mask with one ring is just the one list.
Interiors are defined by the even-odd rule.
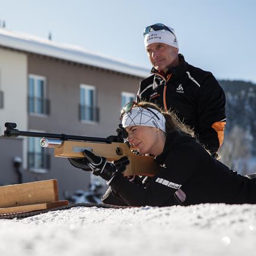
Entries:
[[34,35],[9,31],[5,28],[0,28],[0,46],[92,65],[94,67],[105,68],[132,76],[147,77],[150,73],[150,70],[147,68],[125,63],[124,61],[108,57],[107,55],[86,50],[83,47],[54,42],[35,37]]

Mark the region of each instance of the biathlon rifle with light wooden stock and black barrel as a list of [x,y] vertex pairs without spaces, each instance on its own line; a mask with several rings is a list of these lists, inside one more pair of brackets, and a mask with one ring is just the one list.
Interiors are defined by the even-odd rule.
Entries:
[[40,145],[42,147],[53,147],[55,157],[84,157],[84,150],[90,150],[97,156],[104,156],[109,162],[127,156],[130,163],[126,166],[124,176],[154,176],[159,169],[153,160],[153,156],[135,155],[130,150],[129,145],[124,143],[127,132],[122,124],[119,124],[119,128],[116,130],[116,136],[111,135],[106,138],[67,135],[63,133],[24,132],[15,129],[17,127],[16,123],[5,123],[5,127],[6,130],[4,131],[4,135],[2,135],[4,137],[41,137]]

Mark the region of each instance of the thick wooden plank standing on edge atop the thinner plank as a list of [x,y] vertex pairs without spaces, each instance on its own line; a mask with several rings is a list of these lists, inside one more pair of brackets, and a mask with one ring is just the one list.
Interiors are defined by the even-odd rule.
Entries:
[[0,186],[0,208],[58,201],[57,180]]

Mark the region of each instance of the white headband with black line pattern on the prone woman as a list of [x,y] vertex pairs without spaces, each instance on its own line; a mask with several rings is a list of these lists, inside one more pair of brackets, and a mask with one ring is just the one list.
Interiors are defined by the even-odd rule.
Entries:
[[[159,119],[156,116],[159,117]],[[165,132],[165,117],[159,111],[151,109],[150,107],[147,109],[134,107],[128,113],[124,113],[122,124],[124,128],[136,125],[149,126],[156,127]]]

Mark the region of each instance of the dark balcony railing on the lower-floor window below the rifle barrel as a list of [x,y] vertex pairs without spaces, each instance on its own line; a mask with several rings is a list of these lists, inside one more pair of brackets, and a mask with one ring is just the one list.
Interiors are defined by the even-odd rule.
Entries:
[[46,153],[28,152],[28,169],[50,169],[50,155]]

